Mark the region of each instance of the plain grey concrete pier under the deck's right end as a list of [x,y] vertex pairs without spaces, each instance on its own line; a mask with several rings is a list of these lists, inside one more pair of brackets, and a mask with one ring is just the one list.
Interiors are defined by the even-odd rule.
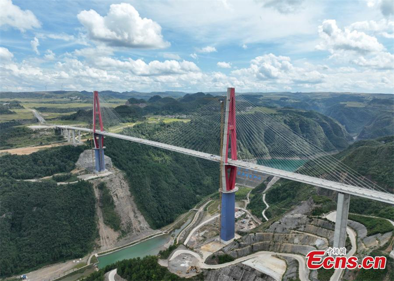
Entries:
[[338,193],[338,202],[336,205],[336,219],[334,232],[334,248],[345,247],[346,227],[348,224],[350,194]]

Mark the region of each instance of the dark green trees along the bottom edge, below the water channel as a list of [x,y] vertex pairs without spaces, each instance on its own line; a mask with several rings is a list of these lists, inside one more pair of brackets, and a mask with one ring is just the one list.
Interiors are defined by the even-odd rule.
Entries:
[[[104,274],[114,268],[117,268],[117,273],[120,277],[129,281],[143,281],[143,280],[186,280],[180,278],[176,274],[168,271],[164,266],[158,264],[156,256],[145,256],[143,258],[132,258],[118,261],[110,264],[99,271],[92,273],[84,281],[103,281]],[[190,279],[188,279],[190,280]]]

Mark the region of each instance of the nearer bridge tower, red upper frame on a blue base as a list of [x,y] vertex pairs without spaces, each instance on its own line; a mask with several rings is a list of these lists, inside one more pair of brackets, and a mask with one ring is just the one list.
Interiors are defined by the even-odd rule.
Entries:
[[235,187],[236,167],[228,164],[229,143],[231,159],[237,159],[236,123],[235,123],[235,89],[227,89],[226,112],[224,119],[222,160],[220,166],[222,209],[220,222],[220,238],[228,242],[235,234]]

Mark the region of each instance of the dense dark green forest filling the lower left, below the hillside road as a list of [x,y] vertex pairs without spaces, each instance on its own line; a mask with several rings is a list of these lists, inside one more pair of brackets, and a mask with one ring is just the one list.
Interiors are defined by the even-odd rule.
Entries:
[[2,277],[93,249],[96,199],[90,183],[57,186],[1,178],[0,201]]

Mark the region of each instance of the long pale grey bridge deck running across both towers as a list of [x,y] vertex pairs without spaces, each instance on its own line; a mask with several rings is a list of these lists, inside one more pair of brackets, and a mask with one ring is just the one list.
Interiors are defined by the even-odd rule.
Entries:
[[[79,127],[66,126],[66,125],[53,125],[53,126],[59,127],[59,128],[72,129],[72,130],[81,130],[81,131],[91,132],[91,133],[93,132],[92,129],[88,129],[88,128],[79,128]],[[100,134],[100,135],[104,135],[104,136],[110,136],[110,137],[115,137],[115,138],[119,138],[119,139],[129,140],[129,141],[136,142],[136,143],[146,144],[146,145],[150,145],[150,146],[154,146],[154,147],[158,147],[158,148],[162,148],[165,150],[174,151],[174,152],[178,152],[178,153],[182,153],[182,154],[186,154],[186,155],[190,155],[190,156],[195,156],[195,157],[207,159],[210,161],[220,162],[220,156],[218,156],[218,155],[211,155],[208,153],[199,152],[199,151],[195,151],[195,150],[191,150],[191,149],[187,149],[187,148],[177,147],[177,146],[173,146],[173,145],[169,145],[169,144],[164,144],[164,143],[160,143],[160,142],[150,141],[150,140],[131,137],[131,136],[125,136],[125,135],[121,135],[121,134],[117,134],[117,133],[109,133],[106,131],[96,131],[96,133]],[[250,163],[250,162],[244,162],[241,160],[228,159],[228,163],[233,166],[246,168],[246,169],[257,171],[257,172],[262,172],[262,173],[269,174],[272,176],[277,176],[277,177],[289,179],[292,181],[296,181],[296,182],[300,182],[300,183],[304,183],[304,184],[308,184],[308,185],[312,185],[312,186],[316,186],[316,187],[328,188],[331,190],[335,190],[335,191],[339,191],[339,192],[343,192],[343,193],[348,193],[348,194],[352,194],[352,195],[356,195],[356,196],[360,196],[360,197],[364,197],[364,198],[368,198],[368,199],[373,199],[373,200],[380,201],[380,202],[394,204],[394,194],[392,194],[392,193],[386,193],[386,192],[382,192],[382,191],[378,191],[378,190],[371,190],[371,189],[366,189],[366,188],[361,188],[361,187],[354,187],[354,186],[336,183],[336,182],[332,182],[332,181],[328,181],[328,180],[324,180],[324,179],[320,179],[320,178],[305,176],[305,175],[301,175],[301,174],[294,173],[294,172],[288,172],[288,171],[270,168],[267,166],[258,165],[258,164],[254,164],[254,163]]]

